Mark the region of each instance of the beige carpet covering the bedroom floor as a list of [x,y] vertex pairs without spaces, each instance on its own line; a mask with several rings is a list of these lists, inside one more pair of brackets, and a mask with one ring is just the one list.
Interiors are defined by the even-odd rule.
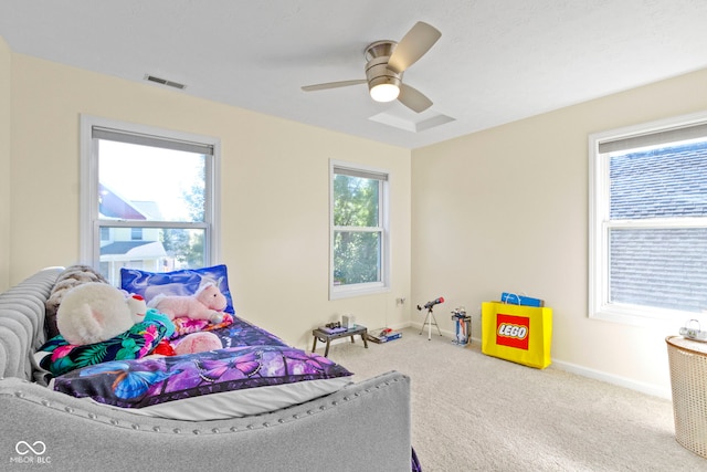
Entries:
[[336,344],[329,358],[355,380],[387,370],[412,378],[423,472],[707,471],[707,459],[676,442],[669,400],[419,333],[368,349],[360,338]]

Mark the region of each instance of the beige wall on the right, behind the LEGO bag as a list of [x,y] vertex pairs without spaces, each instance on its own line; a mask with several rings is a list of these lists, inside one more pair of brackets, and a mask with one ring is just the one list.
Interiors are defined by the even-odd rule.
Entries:
[[[707,71],[412,153],[412,295],[479,305],[525,292],[555,312],[555,363],[668,395],[665,336],[588,318],[588,135],[707,108]],[[452,329],[449,316],[444,323]]]

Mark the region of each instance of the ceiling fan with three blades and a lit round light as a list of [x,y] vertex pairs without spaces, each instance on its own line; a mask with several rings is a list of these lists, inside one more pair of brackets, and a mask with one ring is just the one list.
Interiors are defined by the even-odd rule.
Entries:
[[366,48],[366,78],[325,84],[306,85],[305,92],[368,84],[376,102],[392,102],[398,98],[408,108],[421,113],[432,106],[432,101],[418,90],[402,83],[402,74],[418,62],[437,42],[442,33],[434,27],[419,21],[400,40],[376,41]]

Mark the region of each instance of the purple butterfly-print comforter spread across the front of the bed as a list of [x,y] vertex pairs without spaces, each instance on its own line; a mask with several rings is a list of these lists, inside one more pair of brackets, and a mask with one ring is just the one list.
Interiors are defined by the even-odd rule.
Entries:
[[143,408],[210,394],[352,375],[326,357],[287,346],[242,318],[213,333],[221,338],[222,349],[102,363],[56,377],[53,388],[116,407]]

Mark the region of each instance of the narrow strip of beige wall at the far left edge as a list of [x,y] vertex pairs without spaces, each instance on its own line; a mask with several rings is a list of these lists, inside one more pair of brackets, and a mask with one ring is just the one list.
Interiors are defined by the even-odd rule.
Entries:
[[10,284],[10,61],[0,38],[0,289]]

